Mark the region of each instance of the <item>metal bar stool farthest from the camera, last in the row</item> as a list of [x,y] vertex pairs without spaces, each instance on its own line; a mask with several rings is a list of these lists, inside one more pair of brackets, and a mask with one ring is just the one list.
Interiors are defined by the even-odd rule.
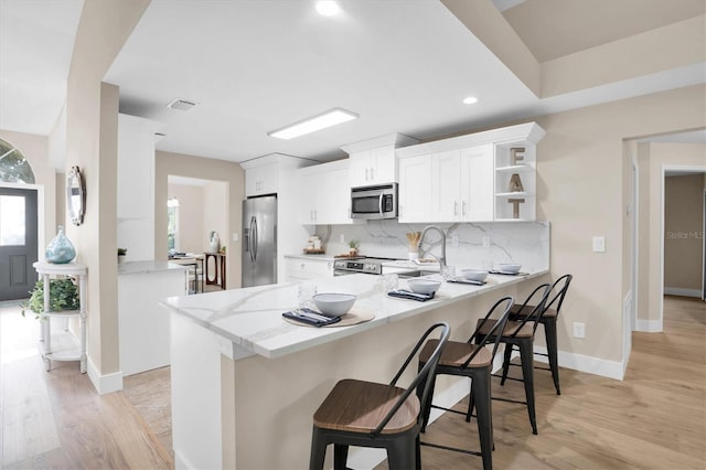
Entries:
[[[561,303],[564,303],[564,297],[566,292],[569,290],[569,284],[571,284],[571,279],[574,276],[564,275],[558,278],[554,285],[552,286],[552,292],[556,292],[550,301],[546,303],[544,307],[544,312],[539,318],[539,323],[544,325],[544,338],[547,345],[547,353],[538,353],[535,354],[546,356],[549,361],[549,368],[546,367],[535,367],[542,368],[545,371],[552,371],[552,378],[554,380],[554,387],[556,388],[556,394],[561,395],[561,388],[559,386],[559,361],[557,357],[557,334],[556,334],[556,322],[559,317],[559,311],[561,310]],[[556,307],[554,305],[556,303]],[[510,310],[510,320],[517,321],[524,317],[522,313],[522,307],[520,305],[514,305]],[[554,308],[553,308],[554,307]],[[533,306],[526,306],[525,308],[532,309]],[[515,365],[515,364],[511,364]],[[506,377],[506,376],[505,376]],[[504,378],[503,377],[503,382]]]

